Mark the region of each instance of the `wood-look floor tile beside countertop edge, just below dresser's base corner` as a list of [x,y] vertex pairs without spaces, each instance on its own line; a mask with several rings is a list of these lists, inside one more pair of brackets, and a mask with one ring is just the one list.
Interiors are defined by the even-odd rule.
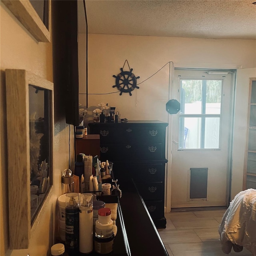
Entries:
[[164,244],[202,242],[194,230],[166,230],[159,234]]

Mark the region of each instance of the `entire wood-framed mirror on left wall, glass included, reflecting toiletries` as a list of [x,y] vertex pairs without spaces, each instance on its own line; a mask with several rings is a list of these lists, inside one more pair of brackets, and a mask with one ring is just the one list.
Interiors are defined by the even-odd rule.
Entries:
[[28,248],[53,171],[53,83],[6,69],[10,248]]

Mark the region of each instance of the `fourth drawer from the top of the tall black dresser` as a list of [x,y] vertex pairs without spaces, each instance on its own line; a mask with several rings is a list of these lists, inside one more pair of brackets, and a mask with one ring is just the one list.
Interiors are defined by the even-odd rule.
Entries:
[[144,201],[164,198],[164,182],[136,182],[136,187]]

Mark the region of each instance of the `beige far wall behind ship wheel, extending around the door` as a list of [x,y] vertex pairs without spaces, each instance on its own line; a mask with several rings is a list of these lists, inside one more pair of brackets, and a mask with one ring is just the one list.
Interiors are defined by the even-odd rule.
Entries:
[[[92,110],[97,104],[104,102],[109,106],[115,106],[121,117],[128,120],[168,122],[165,104],[169,99],[169,66],[162,68],[167,62],[174,62],[175,67],[238,69],[232,154],[231,196],[234,198],[242,190],[246,131],[239,130],[238,126],[246,126],[248,78],[256,77],[256,40],[99,34],[89,34],[88,38],[88,93],[105,95],[88,96],[87,120],[92,119]],[[160,68],[162,70],[140,84],[140,89],[135,89],[132,96],[128,93],[123,93],[122,96],[119,93],[106,94],[117,91],[116,88],[112,88],[115,84],[112,75],[120,73],[126,59],[135,76],[140,76],[138,83],[152,76]],[[128,70],[127,64],[124,70]],[[169,136],[170,132],[169,129]],[[170,158],[169,154],[168,177],[171,173]],[[169,198],[170,195],[167,194],[167,199],[170,200]]]

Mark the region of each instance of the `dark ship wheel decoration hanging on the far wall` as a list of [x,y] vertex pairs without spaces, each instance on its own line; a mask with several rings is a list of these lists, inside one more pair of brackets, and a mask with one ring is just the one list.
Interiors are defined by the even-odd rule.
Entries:
[[[129,67],[130,68],[130,67]],[[132,68],[130,68],[130,71],[124,71],[123,68],[120,68],[121,72],[115,76],[113,75],[114,78],[116,78],[116,84],[113,85],[112,87],[117,87],[118,90],[120,90],[120,94],[122,95],[123,92],[129,92],[130,96],[132,96],[132,91],[137,88],[139,89],[137,84],[137,79],[140,78],[139,76],[135,76],[132,73]]]

